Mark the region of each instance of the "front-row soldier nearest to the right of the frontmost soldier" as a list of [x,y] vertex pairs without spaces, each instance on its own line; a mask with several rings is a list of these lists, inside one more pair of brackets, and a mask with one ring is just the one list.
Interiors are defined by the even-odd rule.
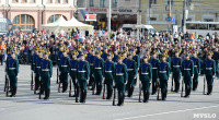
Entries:
[[148,62],[150,56],[143,57],[143,63],[140,64],[139,68],[139,79],[142,84],[143,91],[143,103],[148,103],[150,96],[150,81],[152,79],[152,68],[151,64]]

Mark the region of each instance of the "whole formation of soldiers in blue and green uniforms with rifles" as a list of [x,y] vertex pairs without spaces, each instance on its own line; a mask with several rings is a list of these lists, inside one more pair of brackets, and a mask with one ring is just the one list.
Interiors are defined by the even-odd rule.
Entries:
[[[69,49],[66,44],[60,43],[58,47],[56,57],[58,92],[60,93],[61,89],[66,93],[70,86],[69,97],[76,97],[77,103],[78,97],[80,103],[85,103],[88,89],[92,91],[93,95],[103,93],[105,99],[106,89],[106,99],[112,99],[114,96],[114,105],[117,91],[117,106],[122,106],[125,97],[132,96],[138,79],[140,81],[139,101],[141,101],[141,92],[143,103],[149,101],[150,95],[157,94],[160,99],[160,91],[161,100],[165,100],[171,73],[171,91],[178,93],[182,86],[182,97],[189,97],[191,91],[197,89],[200,73],[205,75],[207,95],[212,92],[216,61],[211,59],[214,52],[210,47],[205,52],[206,57],[201,58],[198,57],[198,49],[192,47],[161,50],[157,46],[145,47],[130,43],[128,46],[104,45],[102,49],[94,45],[85,48],[85,44],[78,44],[76,48]],[[141,48],[146,48],[142,57],[139,56]],[[14,97],[18,87],[19,62],[15,56],[16,48],[11,47],[9,51],[4,91],[8,93],[10,87],[10,97]],[[34,94],[39,95],[39,98],[45,94],[44,99],[49,99],[53,76],[50,52],[41,44],[35,46],[34,51],[31,64],[31,87]],[[7,84],[8,81],[10,84]],[[71,95],[71,83],[73,83],[74,95]],[[185,95],[183,95],[184,89]]]

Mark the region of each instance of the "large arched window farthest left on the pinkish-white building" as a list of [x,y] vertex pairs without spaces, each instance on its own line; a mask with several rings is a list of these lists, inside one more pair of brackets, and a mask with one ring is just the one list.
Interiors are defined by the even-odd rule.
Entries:
[[35,27],[34,19],[27,14],[20,14],[13,20],[13,28],[30,31]]

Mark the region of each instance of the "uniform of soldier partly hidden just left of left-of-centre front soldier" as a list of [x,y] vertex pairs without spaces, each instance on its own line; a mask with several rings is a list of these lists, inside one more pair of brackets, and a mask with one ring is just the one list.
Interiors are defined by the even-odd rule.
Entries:
[[74,60],[74,59],[71,59],[70,60],[70,76],[71,76],[71,80],[72,80],[72,83],[73,83],[73,86],[74,86],[74,96],[79,96],[79,85],[78,85],[78,82],[77,82],[77,69],[78,69],[78,60]]

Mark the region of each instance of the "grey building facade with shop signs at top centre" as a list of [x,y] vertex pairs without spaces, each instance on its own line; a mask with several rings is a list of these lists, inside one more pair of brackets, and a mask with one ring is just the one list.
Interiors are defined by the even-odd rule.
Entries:
[[[108,3],[108,0],[78,0],[78,8],[85,9],[89,14],[96,14],[97,21],[89,23],[100,29],[107,28]],[[111,4],[112,29],[116,31],[123,24],[137,24],[139,0],[112,0]]]

